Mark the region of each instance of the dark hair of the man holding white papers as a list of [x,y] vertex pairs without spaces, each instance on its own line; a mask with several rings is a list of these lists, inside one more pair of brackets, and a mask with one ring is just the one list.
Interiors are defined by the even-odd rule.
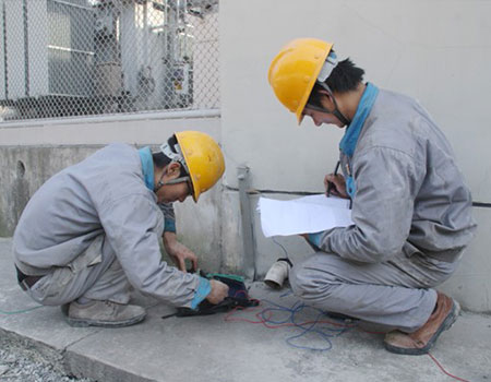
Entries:
[[[339,61],[337,67],[333,69],[333,72],[325,81],[325,84],[333,91],[333,93],[347,93],[355,91],[358,85],[363,81],[364,70],[355,65],[355,63],[347,58]],[[323,87],[315,84],[310,94],[308,104],[322,107],[321,97],[319,91]]]

